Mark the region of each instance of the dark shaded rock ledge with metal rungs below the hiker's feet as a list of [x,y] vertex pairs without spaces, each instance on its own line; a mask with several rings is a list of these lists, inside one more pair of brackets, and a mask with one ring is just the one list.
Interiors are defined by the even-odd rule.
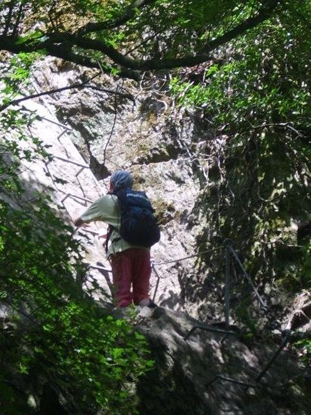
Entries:
[[134,323],[156,360],[138,385],[141,415],[308,413],[310,375],[284,352],[288,333],[263,343],[167,308],[142,309]]

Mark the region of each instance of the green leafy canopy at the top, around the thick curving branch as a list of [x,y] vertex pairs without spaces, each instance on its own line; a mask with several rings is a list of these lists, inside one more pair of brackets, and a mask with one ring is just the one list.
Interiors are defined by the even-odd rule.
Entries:
[[53,55],[138,80],[144,71],[207,62],[211,50],[287,8],[284,0],[8,1],[0,40],[12,53]]

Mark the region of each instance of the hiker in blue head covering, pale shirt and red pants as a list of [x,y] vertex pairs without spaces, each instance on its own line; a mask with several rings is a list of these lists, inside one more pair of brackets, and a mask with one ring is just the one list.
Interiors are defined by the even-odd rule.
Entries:
[[93,221],[104,221],[113,227],[109,238],[111,243],[109,246],[106,243],[106,251],[111,264],[116,306],[126,307],[133,302],[135,305],[153,308],[156,304],[149,297],[150,248],[129,243],[118,233],[120,207],[113,192],[131,190],[132,186],[131,174],[125,170],[117,170],[111,175],[109,193],[97,199],[74,224],[80,227]]

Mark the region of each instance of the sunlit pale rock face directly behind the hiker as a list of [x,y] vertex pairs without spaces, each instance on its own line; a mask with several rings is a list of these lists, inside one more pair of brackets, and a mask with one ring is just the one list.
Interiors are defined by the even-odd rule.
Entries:
[[[69,68],[64,71],[60,62],[50,60],[44,71],[41,68],[35,71],[36,88],[70,85],[72,71]],[[86,77],[91,75],[80,73],[81,80]],[[75,72],[77,78],[79,71]],[[191,155],[189,160],[181,156],[187,151],[186,142],[191,140],[192,124],[180,126],[177,131],[178,122],[172,121],[165,97],[160,99],[154,93],[133,89],[131,84],[112,88],[104,77],[100,82],[96,89],[90,84],[90,88],[63,91],[41,99],[42,108],[50,113],[44,116],[44,120],[50,120],[48,130],[52,133],[57,127],[55,136],[59,136],[55,140],[51,133],[44,134],[48,143],[53,142],[51,152],[57,155],[48,168],[68,183],[57,185],[68,221],[108,191],[111,172],[120,168],[131,170],[136,187],[147,192],[156,208],[162,230],[160,243],[152,250],[151,293],[154,295],[156,291],[158,303],[182,310],[185,297],[180,278],[194,267],[196,258],[190,256],[196,253],[196,233],[205,225],[202,220],[198,227],[191,216],[200,183],[193,174]],[[83,165],[90,167],[89,171]],[[109,268],[102,240],[98,238],[104,229],[105,225],[97,223],[86,230],[92,239],[86,263]],[[79,231],[79,235],[82,233]],[[185,257],[189,257],[187,264],[178,261]],[[91,267],[89,272],[106,284],[101,270]]]

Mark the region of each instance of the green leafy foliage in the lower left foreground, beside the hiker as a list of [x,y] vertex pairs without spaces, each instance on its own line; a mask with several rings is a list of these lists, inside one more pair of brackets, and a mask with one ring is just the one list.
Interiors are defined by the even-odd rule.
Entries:
[[82,290],[82,251],[52,190],[25,192],[23,162],[47,156],[27,136],[32,119],[26,110],[1,113],[1,411],[37,413],[48,385],[68,413],[134,414],[131,390],[152,367],[147,344],[94,301],[92,287]]

